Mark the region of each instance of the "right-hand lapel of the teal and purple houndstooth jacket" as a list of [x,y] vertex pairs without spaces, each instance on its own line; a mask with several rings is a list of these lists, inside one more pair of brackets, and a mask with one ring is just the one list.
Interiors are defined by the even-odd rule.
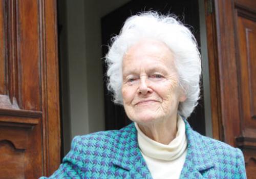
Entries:
[[199,133],[195,132],[188,122],[186,124],[187,155],[180,178],[205,178],[203,173],[214,168],[210,151]]

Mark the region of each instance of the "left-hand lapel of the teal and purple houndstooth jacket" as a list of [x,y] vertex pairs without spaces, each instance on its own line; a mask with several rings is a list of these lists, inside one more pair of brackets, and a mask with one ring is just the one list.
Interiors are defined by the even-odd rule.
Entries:
[[120,130],[112,163],[129,172],[131,178],[152,178],[139,150],[134,123]]

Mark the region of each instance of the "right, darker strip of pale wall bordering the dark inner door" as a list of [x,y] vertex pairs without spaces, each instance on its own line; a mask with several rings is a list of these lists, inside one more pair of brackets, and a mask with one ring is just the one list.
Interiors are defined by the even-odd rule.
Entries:
[[128,1],[84,1],[89,133],[104,130],[100,19],[126,2]]

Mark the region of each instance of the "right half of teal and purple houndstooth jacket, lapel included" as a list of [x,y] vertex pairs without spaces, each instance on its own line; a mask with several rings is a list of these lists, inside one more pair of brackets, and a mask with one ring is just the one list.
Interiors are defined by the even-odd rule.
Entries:
[[180,178],[246,178],[240,149],[201,136],[185,122],[188,150]]

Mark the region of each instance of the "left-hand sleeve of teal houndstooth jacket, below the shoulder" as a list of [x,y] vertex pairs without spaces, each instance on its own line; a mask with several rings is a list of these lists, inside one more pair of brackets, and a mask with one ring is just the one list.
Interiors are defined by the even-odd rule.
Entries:
[[40,179],[51,178],[83,178],[81,168],[83,166],[81,137],[77,136],[73,139],[71,150],[63,158],[62,164],[49,177],[42,176]]

